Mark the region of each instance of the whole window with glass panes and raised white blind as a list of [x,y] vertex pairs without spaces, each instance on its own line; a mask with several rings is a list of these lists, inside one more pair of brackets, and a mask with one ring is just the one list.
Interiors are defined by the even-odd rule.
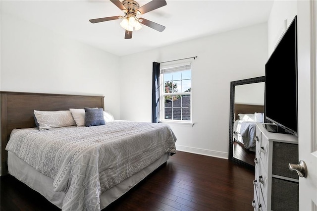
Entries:
[[160,121],[191,122],[191,65],[161,67]]

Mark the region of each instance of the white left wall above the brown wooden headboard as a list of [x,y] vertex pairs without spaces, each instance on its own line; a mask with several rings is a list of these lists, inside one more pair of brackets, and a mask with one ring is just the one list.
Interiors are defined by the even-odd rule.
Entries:
[[0,90],[105,96],[120,118],[119,57],[1,13]]

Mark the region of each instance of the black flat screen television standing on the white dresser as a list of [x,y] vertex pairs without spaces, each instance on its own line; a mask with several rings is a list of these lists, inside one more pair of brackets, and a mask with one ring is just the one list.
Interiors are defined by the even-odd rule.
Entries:
[[297,16],[265,64],[265,118],[298,136]]

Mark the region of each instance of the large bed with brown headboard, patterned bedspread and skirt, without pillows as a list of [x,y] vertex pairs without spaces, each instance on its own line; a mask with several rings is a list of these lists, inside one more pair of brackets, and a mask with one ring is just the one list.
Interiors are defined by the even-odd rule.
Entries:
[[11,174],[62,211],[105,208],[176,153],[165,124],[111,121],[44,131],[35,124],[34,110],[104,108],[103,96],[0,94],[1,175]]

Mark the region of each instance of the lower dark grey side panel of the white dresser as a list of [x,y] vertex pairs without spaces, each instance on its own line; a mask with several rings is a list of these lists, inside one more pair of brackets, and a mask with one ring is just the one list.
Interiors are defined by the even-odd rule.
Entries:
[[299,211],[298,183],[272,178],[272,211]]

